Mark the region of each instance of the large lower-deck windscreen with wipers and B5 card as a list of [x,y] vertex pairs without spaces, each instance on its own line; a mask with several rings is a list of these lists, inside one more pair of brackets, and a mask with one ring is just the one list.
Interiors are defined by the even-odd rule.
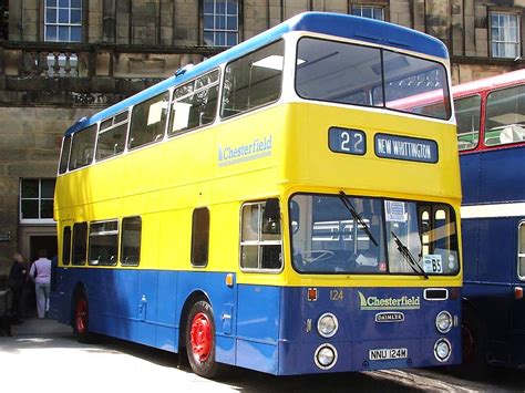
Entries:
[[299,272],[459,272],[455,215],[449,205],[298,194],[289,211]]

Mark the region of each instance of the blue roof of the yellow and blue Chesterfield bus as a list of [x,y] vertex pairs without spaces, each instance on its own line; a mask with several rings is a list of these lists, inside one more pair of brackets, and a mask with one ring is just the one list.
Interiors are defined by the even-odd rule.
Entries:
[[79,120],[65,132],[71,135],[76,131],[85,128],[96,122],[111,117],[131,105],[161,94],[173,85],[182,84],[207,71],[212,71],[219,64],[237,59],[258,48],[281,38],[291,31],[308,31],[359,41],[383,44],[392,48],[411,50],[422,54],[447,59],[446,46],[440,40],[424,33],[403,28],[397,24],[382,22],[369,18],[360,18],[341,13],[329,12],[305,12],[300,13],[278,25],[271,28],[247,41],[239,43],[215,56],[205,60],[182,74],[175,74],[154,86],[151,86],[128,99],[112,105],[92,117]]

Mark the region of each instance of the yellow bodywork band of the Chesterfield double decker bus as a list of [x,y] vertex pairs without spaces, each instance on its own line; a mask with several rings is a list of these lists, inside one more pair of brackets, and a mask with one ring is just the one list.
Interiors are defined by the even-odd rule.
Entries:
[[[366,132],[366,155],[331,152],[330,126]],[[379,158],[374,154],[377,133],[433,139],[439,145],[439,162]],[[241,272],[241,204],[276,196],[286,201],[297,192],[343,189],[354,195],[447,203],[459,217],[459,170],[453,125],[373,108],[281,104],[60,176],[55,217],[89,221],[141,215],[140,269],[233,271],[237,282],[261,285],[375,287],[378,276],[298,275],[289,262],[288,232],[284,234],[282,272]],[[210,210],[209,262],[196,269],[191,265],[192,215],[203,206]],[[286,209],[282,220],[286,230]],[[460,286],[461,278],[381,276],[380,280],[392,287]]]

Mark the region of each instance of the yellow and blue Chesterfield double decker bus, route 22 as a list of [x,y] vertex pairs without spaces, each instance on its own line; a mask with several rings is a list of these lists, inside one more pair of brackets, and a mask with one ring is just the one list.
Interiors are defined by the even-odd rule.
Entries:
[[65,132],[53,312],[206,378],[459,363],[455,141],[441,41],[297,15]]

